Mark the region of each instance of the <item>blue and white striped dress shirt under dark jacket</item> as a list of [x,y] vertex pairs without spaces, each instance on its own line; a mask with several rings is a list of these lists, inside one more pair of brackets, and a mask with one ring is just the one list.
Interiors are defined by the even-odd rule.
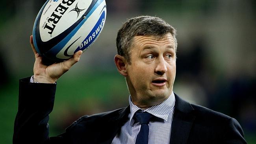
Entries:
[[112,144],[135,144],[140,130],[139,122],[135,122],[133,119],[137,111],[146,111],[159,118],[158,121],[150,121],[148,124],[148,144],[169,144],[175,104],[174,93],[172,92],[171,96],[159,105],[154,105],[145,110],[134,105],[131,96],[129,97],[129,103],[130,114],[128,115],[128,121],[121,127],[121,132],[114,137]]

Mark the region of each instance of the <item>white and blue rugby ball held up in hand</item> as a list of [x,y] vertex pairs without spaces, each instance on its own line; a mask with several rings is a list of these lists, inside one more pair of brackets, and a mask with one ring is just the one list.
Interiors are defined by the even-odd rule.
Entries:
[[100,35],[106,12],[105,0],[47,0],[33,27],[35,49],[54,62],[84,52]]

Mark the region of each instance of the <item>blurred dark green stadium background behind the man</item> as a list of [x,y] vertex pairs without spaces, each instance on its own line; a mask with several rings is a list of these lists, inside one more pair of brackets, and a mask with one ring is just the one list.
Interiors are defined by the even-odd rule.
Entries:
[[[12,142],[19,79],[33,75],[29,36],[44,3],[0,2],[1,144]],[[174,92],[191,103],[236,118],[247,142],[256,143],[255,0],[106,0],[106,4],[107,18],[100,37],[58,80],[50,114],[51,136],[62,133],[84,114],[128,105],[125,79],[113,62],[116,34],[127,18],[151,15],[177,29]]]

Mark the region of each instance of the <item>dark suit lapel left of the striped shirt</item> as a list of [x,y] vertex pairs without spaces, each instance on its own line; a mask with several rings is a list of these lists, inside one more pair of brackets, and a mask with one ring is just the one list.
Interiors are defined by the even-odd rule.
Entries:
[[118,115],[111,117],[108,120],[108,131],[101,131],[97,144],[111,144],[113,138],[121,131],[121,127],[128,120],[130,113],[130,105],[122,109]]

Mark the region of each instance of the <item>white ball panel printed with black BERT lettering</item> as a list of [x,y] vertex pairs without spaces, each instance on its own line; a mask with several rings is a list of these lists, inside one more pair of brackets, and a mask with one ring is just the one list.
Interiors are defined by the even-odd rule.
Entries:
[[40,18],[42,41],[49,41],[76,23],[92,2],[93,0],[74,0],[63,4],[63,1],[49,1]]

